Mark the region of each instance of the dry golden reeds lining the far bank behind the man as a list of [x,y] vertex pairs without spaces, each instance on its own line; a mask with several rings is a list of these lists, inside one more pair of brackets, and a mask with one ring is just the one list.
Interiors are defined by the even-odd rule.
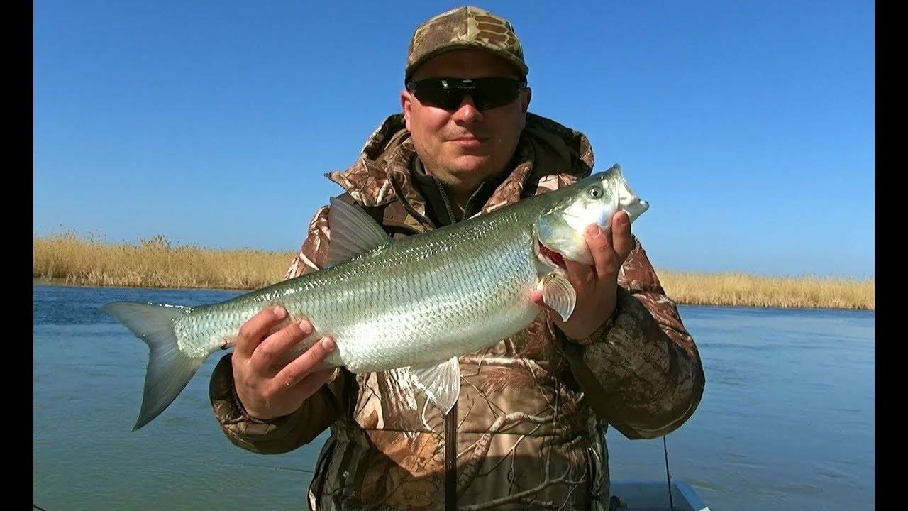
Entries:
[[[293,253],[173,246],[160,235],[137,244],[115,244],[94,235],[68,233],[35,236],[33,257],[36,281],[73,286],[247,290],[279,282]],[[681,305],[873,310],[873,279],[657,273],[667,295]]]

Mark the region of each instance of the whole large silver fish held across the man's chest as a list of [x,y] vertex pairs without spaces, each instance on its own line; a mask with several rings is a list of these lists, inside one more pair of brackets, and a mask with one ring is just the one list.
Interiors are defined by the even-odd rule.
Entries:
[[534,289],[568,320],[576,295],[564,258],[592,264],[583,232],[649,207],[618,165],[574,185],[485,215],[391,240],[359,207],[331,199],[331,245],[320,271],[204,306],[104,306],[148,344],[142,407],[133,431],[170,406],[205,359],[234,346],[240,326],[269,306],[306,318],[336,349],[323,368],[352,373],[409,368],[410,380],[447,413],[459,396],[458,356],[528,326],[542,311]]

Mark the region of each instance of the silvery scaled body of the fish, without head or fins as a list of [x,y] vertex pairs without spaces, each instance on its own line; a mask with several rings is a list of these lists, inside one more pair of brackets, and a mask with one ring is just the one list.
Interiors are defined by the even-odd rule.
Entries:
[[[506,216],[466,234],[449,231],[429,245],[429,257],[419,245],[389,245],[347,265],[287,281],[278,285],[287,286],[287,293],[276,295],[283,295],[280,303],[292,320],[305,317],[318,336],[335,340],[329,362],[351,372],[447,359],[488,346],[538,314],[528,299],[538,279],[532,225],[522,232],[502,228],[514,224]],[[479,257],[469,254],[477,244],[489,246]],[[192,321],[207,325],[207,339],[217,339],[238,330],[262,306],[277,305],[274,295],[248,298],[242,315],[222,314],[235,308],[230,303],[209,306],[210,312],[201,306]],[[427,338],[435,340],[435,349],[412,349]],[[220,345],[206,343],[204,349]]]

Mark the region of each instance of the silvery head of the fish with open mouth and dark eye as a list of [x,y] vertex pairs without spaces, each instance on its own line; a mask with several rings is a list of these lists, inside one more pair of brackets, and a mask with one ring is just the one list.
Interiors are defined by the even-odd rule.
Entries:
[[564,259],[593,264],[584,237],[588,225],[596,224],[607,231],[618,211],[627,212],[633,223],[649,209],[649,204],[627,184],[618,165],[559,192],[558,201],[538,218],[536,253],[544,266],[561,272],[565,269]]

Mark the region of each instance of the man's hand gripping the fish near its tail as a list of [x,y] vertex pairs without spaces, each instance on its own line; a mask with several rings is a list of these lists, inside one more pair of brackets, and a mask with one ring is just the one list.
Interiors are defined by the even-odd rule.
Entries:
[[308,321],[293,322],[269,335],[286,316],[282,306],[252,316],[240,327],[233,350],[236,394],[246,413],[260,420],[295,412],[334,372],[315,370],[335,347],[331,337],[322,337],[300,356],[291,355],[291,348],[311,335]]

